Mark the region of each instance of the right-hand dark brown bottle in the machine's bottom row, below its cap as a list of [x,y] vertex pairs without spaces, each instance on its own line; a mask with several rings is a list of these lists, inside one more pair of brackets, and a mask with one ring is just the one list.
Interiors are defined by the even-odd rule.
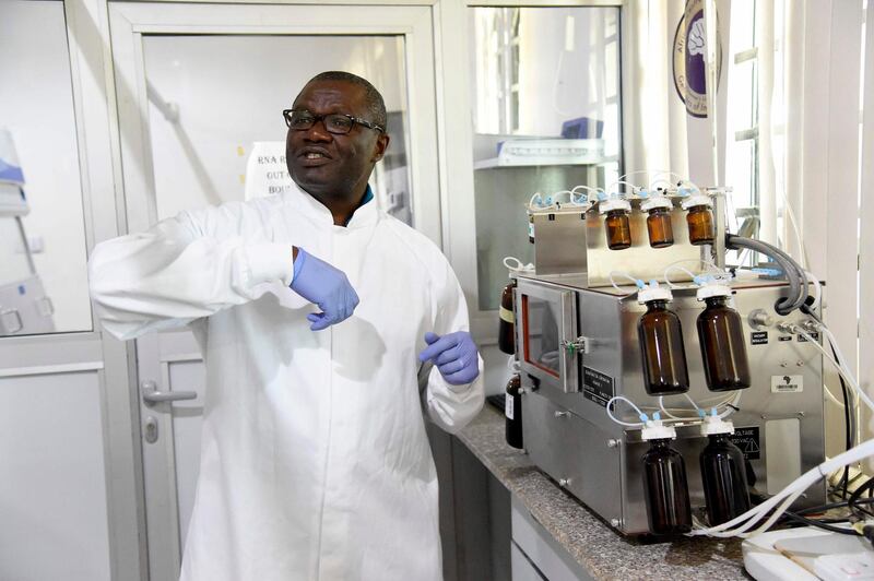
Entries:
[[701,483],[710,526],[740,517],[749,510],[744,453],[728,434],[708,436],[701,451]]

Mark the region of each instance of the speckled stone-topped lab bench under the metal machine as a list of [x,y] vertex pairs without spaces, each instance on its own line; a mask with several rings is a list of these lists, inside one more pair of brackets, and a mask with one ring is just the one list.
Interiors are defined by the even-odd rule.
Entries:
[[[485,405],[457,435],[509,490],[512,579],[751,579],[737,540],[624,537],[504,440],[504,415]],[[584,453],[584,442],[568,453]]]

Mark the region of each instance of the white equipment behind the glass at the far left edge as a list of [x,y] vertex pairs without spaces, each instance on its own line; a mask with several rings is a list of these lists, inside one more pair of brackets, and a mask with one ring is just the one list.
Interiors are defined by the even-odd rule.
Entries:
[[0,129],[0,335],[55,331],[55,307],[36,272],[24,228],[29,211],[12,134]]

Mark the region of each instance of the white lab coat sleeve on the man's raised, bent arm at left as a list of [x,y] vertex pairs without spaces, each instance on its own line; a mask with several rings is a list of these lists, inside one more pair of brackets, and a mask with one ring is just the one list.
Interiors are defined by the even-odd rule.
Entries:
[[182,327],[257,298],[264,283],[291,284],[292,246],[247,244],[237,227],[214,227],[209,212],[228,211],[182,212],[94,248],[91,295],[107,331],[128,340]]

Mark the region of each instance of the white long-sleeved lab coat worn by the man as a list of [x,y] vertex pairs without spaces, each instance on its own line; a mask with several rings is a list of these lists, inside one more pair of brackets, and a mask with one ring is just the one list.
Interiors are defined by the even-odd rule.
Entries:
[[[292,246],[349,276],[354,315],[312,332],[287,288]],[[97,245],[91,288],[122,339],[191,323],[206,388],[188,581],[442,578],[423,407],[448,431],[483,404],[416,358],[426,331],[468,329],[426,237],[359,208],[347,227],[294,190],[182,212]]]

